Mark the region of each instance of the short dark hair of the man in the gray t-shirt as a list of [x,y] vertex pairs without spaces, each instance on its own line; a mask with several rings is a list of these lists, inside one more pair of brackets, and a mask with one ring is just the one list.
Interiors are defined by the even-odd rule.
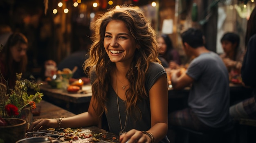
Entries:
[[182,43],[185,42],[193,48],[204,46],[203,33],[200,29],[189,28],[181,34]]

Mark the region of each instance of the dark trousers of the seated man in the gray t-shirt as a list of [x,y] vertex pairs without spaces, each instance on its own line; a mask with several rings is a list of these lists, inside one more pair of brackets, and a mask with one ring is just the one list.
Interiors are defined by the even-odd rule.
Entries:
[[168,121],[168,124],[171,126],[181,126],[197,131],[210,131],[215,129],[202,123],[191,108],[172,112],[168,116]]

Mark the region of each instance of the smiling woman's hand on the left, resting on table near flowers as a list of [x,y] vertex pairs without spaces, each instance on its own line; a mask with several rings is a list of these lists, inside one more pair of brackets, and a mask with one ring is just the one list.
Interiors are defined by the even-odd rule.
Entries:
[[40,129],[58,128],[56,119],[39,119],[30,124],[28,132],[37,131]]

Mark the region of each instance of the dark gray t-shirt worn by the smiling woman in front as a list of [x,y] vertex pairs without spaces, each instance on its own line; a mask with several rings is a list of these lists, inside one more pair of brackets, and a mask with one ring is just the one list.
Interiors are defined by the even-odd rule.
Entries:
[[[155,62],[150,63],[148,73],[146,73],[145,86],[146,86],[147,92],[149,92],[150,88],[153,86],[153,84],[155,84],[155,81],[157,81],[157,79],[159,79],[159,77],[163,74],[166,74],[163,66]],[[108,112],[106,113],[106,117],[108,120],[109,130],[110,132],[119,134],[119,132],[121,131],[121,126],[120,126],[120,120],[119,120],[119,114],[118,114],[118,108],[117,108],[117,97],[116,97],[116,92],[112,88],[112,86],[109,86],[108,88],[107,97],[108,97],[108,101],[106,102],[106,107],[108,109]],[[121,116],[121,123],[123,126],[122,128],[124,128],[125,121],[126,121],[126,106],[125,106],[125,102],[119,97],[118,97],[118,103],[119,103],[119,110],[120,110],[120,116]],[[126,132],[128,132],[131,129],[147,131],[151,128],[149,98],[138,101],[137,106],[141,113],[137,111],[132,115],[128,114],[126,128],[124,129]]]

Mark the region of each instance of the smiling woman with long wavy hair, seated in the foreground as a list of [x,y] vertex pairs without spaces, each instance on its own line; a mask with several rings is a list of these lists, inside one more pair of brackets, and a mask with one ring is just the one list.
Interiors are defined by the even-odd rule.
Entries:
[[168,143],[166,72],[149,20],[137,7],[123,5],[109,9],[95,24],[84,67],[92,82],[88,112],[63,118],[60,125],[55,119],[40,119],[29,131],[99,125],[105,113],[120,143]]

